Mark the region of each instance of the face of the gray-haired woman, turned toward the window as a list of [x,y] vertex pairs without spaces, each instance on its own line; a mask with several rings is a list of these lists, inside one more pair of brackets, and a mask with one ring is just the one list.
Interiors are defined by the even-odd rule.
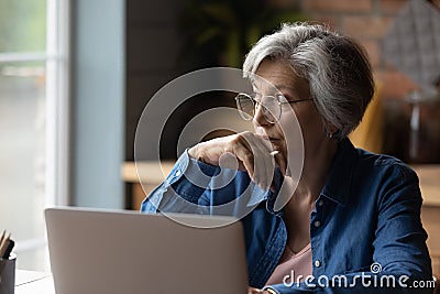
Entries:
[[[253,89],[260,97],[282,94],[289,102],[311,98],[308,81],[296,75],[286,62],[265,59],[255,74],[263,78],[253,81]],[[260,107],[253,119],[256,133],[266,137],[273,149],[283,153],[284,159],[287,159],[287,155],[292,159],[289,153],[297,152],[298,142],[300,143],[301,132],[298,130],[295,116],[302,131],[306,157],[308,154],[316,154],[314,152],[318,152],[323,140],[328,140],[323,121],[312,100],[283,104],[279,121],[275,123],[265,120]]]

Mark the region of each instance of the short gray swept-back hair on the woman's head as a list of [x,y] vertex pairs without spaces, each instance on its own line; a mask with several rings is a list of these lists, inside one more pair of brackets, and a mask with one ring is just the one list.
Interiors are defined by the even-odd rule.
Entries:
[[286,61],[308,80],[318,112],[338,128],[338,139],[361,122],[374,94],[374,80],[365,51],[352,39],[319,24],[283,24],[249,52],[244,77],[251,78],[266,58]]

